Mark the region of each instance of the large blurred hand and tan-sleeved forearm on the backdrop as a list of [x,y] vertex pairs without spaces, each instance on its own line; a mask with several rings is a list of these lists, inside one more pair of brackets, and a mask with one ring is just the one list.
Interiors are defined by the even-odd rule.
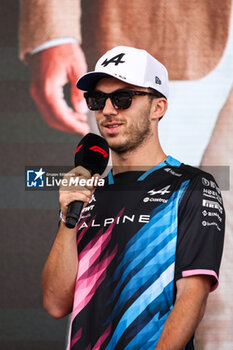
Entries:
[[[89,131],[86,105],[83,93],[75,87],[87,70],[80,46],[80,15],[79,0],[22,0],[19,39],[20,58],[31,68],[31,95],[45,121],[55,129],[84,135]],[[30,54],[58,38],[71,40]],[[71,84],[72,108],[64,99],[67,83]]]

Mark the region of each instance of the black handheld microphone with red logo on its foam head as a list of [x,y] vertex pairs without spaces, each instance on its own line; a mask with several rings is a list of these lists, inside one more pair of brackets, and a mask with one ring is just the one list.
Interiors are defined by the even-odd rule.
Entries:
[[[91,175],[102,174],[106,169],[109,159],[107,141],[96,134],[89,133],[79,142],[74,158],[75,167],[83,166]],[[82,201],[73,201],[69,204],[65,225],[74,228],[83,208]]]

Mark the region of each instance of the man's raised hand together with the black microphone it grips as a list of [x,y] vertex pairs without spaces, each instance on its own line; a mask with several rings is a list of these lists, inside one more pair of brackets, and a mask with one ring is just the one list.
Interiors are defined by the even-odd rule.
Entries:
[[[102,174],[108,164],[109,148],[107,142],[100,136],[89,133],[78,144],[75,153],[75,168],[66,177],[72,174],[84,180],[91,179],[95,174]],[[94,181],[94,184],[96,181]],[[65,225],[74,228],[82,211],[83,205],[91,200],[95,190],[94,185],[80,186],[70,191],[60,190],[60,206],[63,215],[66,215]],[[68,207],[68,209],[67,209]]]

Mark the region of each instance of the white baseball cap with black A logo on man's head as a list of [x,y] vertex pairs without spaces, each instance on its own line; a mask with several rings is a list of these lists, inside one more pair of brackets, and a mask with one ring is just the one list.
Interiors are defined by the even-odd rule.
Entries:
[[129,46],[114,47],[98,60],[95,70],[82,75],[76,85],[80,90],[89,91],[99,79],[106,77],[155,89],[168,98],[167,69],[145,50]]

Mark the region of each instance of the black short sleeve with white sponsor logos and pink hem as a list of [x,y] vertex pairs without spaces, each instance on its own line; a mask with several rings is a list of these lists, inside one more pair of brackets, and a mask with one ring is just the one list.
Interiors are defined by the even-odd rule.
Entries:
[[195,176],[179,204],[175,280],[193,275],[213,277],[218,286],[225,229],[220,190],[208,173]]

